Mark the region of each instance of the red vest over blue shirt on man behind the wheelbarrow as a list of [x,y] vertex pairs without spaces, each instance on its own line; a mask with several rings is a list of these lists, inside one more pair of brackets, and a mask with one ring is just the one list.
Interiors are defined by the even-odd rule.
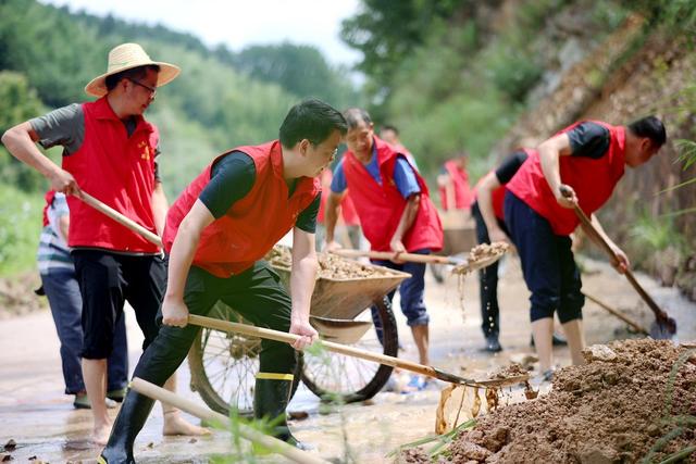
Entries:
[[[345,154],[344,172],[362,230],[370,240],[372,250],[390,251],[389,241],[399,225],[407,203],[394,183],[397,156],[403,156],[403,154],[394,151],[393,147],[377,137],[373,140],[377,151],[382,185],[372,178],[365,166],[350,150]],[[443,248],[443,226],[430,199],[425,181],[418,171],[413,170],[413,173],[421,187],[421,202],[413,225],[405,234],[402,241],[407,251],[421,249],[439,251]]]

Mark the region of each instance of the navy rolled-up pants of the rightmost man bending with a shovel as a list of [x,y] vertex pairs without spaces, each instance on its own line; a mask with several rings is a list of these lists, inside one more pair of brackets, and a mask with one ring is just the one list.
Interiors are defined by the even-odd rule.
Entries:
[[532,292],[532,322],[554,317],[555,311],[562,324],[582,319],[585,297],[571,238],[554,234],[545,217],[510,191],[505,195],[505,222]]

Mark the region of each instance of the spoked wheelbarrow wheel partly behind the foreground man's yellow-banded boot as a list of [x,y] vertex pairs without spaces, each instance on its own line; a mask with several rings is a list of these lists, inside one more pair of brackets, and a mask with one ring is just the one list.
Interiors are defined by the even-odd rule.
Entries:
[[[226,304],[219,302],[211,317],[244,323]],[[188,352],[191,390],[198,391],[210,409],[228,415],[236,407],[241,416],[253,415],[253,389],[259,372],[261,339],[202,328]],[[290,398],[300,380],[302,356],[298,356]]]

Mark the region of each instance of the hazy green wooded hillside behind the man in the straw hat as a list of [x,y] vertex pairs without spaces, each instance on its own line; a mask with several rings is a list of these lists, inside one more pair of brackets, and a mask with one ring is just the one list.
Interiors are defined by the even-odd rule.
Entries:
[[[337,108],[359,103],[346,70],[332,67],[312,47],[211,50],[162,26],[5,0],[0,2],[0,134],[51,109],[89,100],[84,86],[104,72],[109,50],[127,41],[182,67],[148,111],[160,129],[161,176],[170,200],[217,153],[276,138],[301,98],[318,97]],[[59,151],[51,155],[60,161]],[[7,274],[34,265],[40,223],[27,221],[38,217],[48,184],[1,146],[0,175],[8,200],[0,217],[0,273]]]

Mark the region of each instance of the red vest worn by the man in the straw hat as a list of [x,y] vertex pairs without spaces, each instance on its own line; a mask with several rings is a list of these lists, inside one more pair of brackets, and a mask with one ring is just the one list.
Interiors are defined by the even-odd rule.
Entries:
[[[87,193],[157,234],[152,214],[157,128],[138,116],[130,137],[105,97],[83,103],[85,140],[63,156],[63,168]],[[114,251],[157,253],[158,247],[69,196],[70,247],[99,247]]]

